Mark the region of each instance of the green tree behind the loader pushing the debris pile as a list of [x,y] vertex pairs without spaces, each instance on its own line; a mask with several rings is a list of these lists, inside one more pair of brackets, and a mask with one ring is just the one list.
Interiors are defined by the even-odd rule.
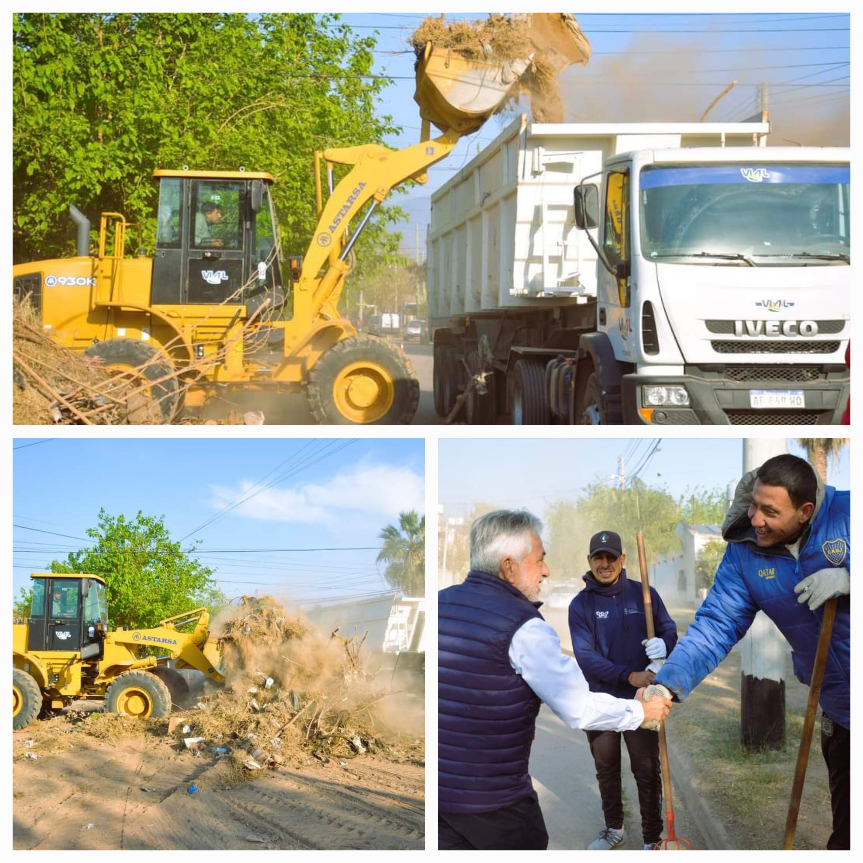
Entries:
[[55,560],[50,571],[103,576],[111,627],[154,627],[201,606],[216,614],[225,604],[212,570],[171,541],[164,516],[139,512],[129,521],[101,509],[98,527],[86,533],[95,544]]

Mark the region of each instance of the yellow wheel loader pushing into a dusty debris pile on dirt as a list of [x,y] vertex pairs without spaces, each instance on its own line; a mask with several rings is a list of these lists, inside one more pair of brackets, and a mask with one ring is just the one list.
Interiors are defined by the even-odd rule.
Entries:
[[[217,640],[205,608],[160,620],[153,629],[108,630],[104,580],[91,575],[34,573],[26,623],[12,626],[12,728],[25,728],[73,701],[101,699],[110,713],[159,718],[172,703],[187,707],[180,669],[224,683]],[[178,627],[194,623],[192,633]],[[173,657],[149,655],[159,647]]]

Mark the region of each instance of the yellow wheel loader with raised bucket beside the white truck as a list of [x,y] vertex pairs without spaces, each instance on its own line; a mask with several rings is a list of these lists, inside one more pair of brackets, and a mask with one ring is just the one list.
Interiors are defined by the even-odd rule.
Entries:
[[[555,16],[565,14],[545,17]],[[570,39],[559,24],[552,30]],[[91,255],[90,223],[71,207],[77,255],[17,265],[13,290],[59,343],[134,378],[165,422],[184,400],[200,406],[240,386],[305,388],[318,423],[409,423],[419,404],[411,362],[338,311],[354,245],[395,186],[424,183],[428,167],[518,91],[531,57],[479,62],[427,44],[416,69],[420,142],[315,154],[318,226],[304,258],[281,255],[271,174],[158,170],[154,257],[125,256],[127,224],[112,212]],[[334,187],[337,165],[350,171]]]

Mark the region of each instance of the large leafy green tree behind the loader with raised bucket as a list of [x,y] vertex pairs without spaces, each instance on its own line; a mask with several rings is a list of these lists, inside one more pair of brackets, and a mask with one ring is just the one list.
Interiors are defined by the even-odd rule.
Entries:
[[[313,152],[394,131],[375,113],[386,79],[362,77],[374,45],[330,14],[16,13],[14,261],[72,253],[70,204],[122,212],[152,249],[150,176],[182,166],[273,173],[282,248],[303,254]],[[367,272],[395,255],[397,217],[380,208],[357,244]]]

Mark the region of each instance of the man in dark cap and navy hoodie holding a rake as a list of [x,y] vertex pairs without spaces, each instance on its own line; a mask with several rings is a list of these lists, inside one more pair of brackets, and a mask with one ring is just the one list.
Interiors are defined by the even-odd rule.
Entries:
[[[570,602],[570,636],[576,662],[591,692],[632,698],[649,686],[677,643],[677,626],[656,590],[651,602],[656,637],[647,639],[644,594],[640,582],[627,579],[620,536],[600,531],[590,538],[584,589]],[[641,832],[646,851],[658,848],[662,834],[662,778],[658,736],[647,728],[623,732],[586,731],[596,765],[605,828],[589,851],[610,851],[626,841],[620,787],[620,735],[627,744],[639,790]]]

